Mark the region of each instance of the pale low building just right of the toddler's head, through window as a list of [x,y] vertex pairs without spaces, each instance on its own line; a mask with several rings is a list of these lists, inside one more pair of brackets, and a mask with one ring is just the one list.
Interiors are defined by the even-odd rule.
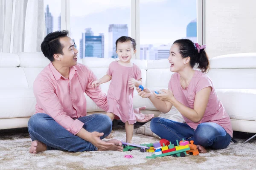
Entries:
[[152,44],[140,45],[140,59],[157,59],[157,48],[154,48]]

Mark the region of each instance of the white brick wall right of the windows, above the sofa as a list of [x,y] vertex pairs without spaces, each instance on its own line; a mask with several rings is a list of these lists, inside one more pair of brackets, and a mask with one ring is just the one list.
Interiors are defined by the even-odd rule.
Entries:
[[256,0],[205,0],[209,58],[256,52]]

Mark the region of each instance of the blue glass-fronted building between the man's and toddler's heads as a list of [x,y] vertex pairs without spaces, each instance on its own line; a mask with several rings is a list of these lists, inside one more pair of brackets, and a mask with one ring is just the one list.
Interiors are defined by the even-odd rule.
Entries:
[[104,34],[94,36],[91,28],[86,28],[80,39],[80,58],[104,58]]

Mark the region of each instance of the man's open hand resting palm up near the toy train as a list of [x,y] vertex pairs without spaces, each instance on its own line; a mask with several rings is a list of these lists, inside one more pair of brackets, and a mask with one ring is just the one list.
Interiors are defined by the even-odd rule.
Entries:
[[113,143],[107,143],[100,139],[100,136],[103,136],[104,133],[99,132],[92,132],[90,133],[90,140],[94,146],[98,147],[98,150],[110,150],[111,146],[113,146]]

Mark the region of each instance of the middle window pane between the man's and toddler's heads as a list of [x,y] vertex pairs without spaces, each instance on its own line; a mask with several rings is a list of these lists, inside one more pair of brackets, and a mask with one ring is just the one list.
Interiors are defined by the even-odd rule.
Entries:
[[70,37],[80,58],[116,58],[116,39],[131,36],[130,11],[130,0],[70,1]]

